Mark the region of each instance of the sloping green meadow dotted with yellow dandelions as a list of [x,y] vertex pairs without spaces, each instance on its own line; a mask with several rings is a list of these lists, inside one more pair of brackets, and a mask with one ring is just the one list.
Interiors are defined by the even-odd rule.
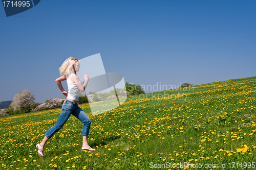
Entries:
[[82,123],[72,115],[48,140],[44,158],[35,145],[61,109],[1,117],[0,165],[24,170],[152,169],[186,162],[190,166],[182,169],[193,164],[223,169],[223,163],[226,168],[252,168],[255,94],[256,77],[249,77],[131,96],[96,116],[88,104],[80,105],[92,120],[89,144],[96,151],[80,150]]

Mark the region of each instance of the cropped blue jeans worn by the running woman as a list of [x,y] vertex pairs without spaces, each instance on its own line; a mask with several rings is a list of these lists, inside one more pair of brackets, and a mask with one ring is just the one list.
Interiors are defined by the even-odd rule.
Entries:
[[64,124],[67,122],[71,114],[73,114],[83,123],[82,136],[88,136],[91,126],[91,119],[88,117],[86,113],[84,113],[84,111],[82,111],[82,109],[76,103],[73,103],[68,100],[66,100],[66,102],[62,104],[62,111],[59,115],[56,124],[45,133],[45,136],[48,139],[50,139],[56,132],[58,132],[64,126]]

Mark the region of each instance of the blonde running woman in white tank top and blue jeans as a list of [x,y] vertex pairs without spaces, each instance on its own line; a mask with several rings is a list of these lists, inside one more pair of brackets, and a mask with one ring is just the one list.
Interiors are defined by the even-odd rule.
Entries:
[[[62,104],[62,111],[58,117],[56,124],[45,133],[44,139],[42,139],[40,143],[36,144],[37,153],[42,157],[44,157],[42,151],[44,150],[47,140],[50,139],[65,125],[71,114],[73,114],[83,123],[81,150],[95,151],[95,149],[92,149],[88,144],[91,119],[77,105],[79,93],[80,91],[84,91],[84,89],[86,89],[89,81],[89,76],[84,74],[83,77],[85,81],[83,84],[81,83],[79,77],[76,75],[76,72],[78,72],[79,69],[80,61],[73,57],[69,57],[67,60],[65,60],[59,68],[60,77],[57,78],[55,81],[62,94],[64,94],[67,98]],[[64,80],[67,80],[69,92],[66,92],[61,85],[61,81]]]

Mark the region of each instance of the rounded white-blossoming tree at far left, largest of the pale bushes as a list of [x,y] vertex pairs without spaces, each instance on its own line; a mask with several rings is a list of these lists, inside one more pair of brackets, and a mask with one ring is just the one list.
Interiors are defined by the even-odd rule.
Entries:
[[23,90],[22,92],[18,92],[15,94],[11,106],[13,110],[23,109],[27,111],[28,107],[31,107],[35,104],[35,96],[32,91]]

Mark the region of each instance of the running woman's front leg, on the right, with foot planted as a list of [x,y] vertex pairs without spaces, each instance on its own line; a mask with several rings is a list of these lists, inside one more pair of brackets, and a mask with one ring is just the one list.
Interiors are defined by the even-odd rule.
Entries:
[[76,107],[72,114],[83,123],[82,147],[89,148],[88,136],[91,126],[91,119],[88,117],[86,113],[84,113],[84,111],[82,111],[82,109],[79,106]]

